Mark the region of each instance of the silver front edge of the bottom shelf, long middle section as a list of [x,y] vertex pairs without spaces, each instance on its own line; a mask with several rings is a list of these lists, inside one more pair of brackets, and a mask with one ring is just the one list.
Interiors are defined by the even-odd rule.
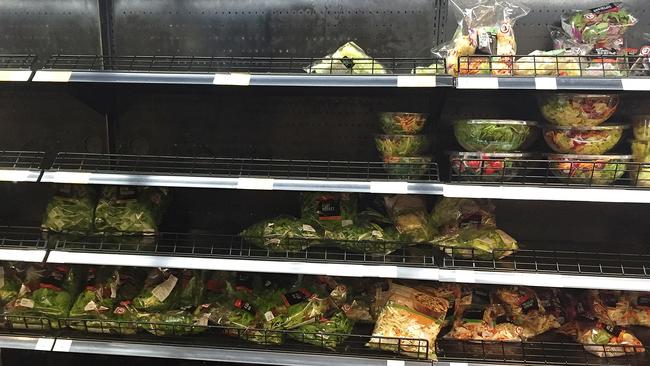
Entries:
[[[321,355],[269,350],[246,350],[195,346],[172,346],[128,341],[98,341],[84,339],[57,339],[55,352],[91,353],[113,356],[173,358],[197,361],[219,361],[261,365],[287,366],[431,366],[431,361],[386,360],[353,356]],[[434,363],[448,366],[449,363]]]

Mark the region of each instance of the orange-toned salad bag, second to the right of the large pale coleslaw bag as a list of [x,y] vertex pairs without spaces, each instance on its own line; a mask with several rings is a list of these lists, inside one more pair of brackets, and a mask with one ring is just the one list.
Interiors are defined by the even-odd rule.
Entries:
[[547,312],[532,288],[500,287],[495,295],[506,309],[508,318],[534,335],[562,326],[553,312]]

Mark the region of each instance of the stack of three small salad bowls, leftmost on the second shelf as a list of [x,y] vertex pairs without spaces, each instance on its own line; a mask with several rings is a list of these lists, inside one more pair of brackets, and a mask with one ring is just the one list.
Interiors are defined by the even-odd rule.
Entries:
[[429,137],[422,134],[428,114],[383,112],[379,114],[383,134],[375,137],[388,177],[419,179],[429,173]]

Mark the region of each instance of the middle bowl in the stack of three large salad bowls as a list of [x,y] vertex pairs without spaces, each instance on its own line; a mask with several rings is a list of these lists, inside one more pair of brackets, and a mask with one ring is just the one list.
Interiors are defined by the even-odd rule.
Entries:
[[628,126],[544,127],[544,140],[560,154],[603,155],[613,149]]

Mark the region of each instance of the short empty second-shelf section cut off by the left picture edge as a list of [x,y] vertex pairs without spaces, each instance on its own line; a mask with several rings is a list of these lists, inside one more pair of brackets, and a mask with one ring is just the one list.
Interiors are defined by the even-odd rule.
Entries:
[[37,182],[43,157],[35,151],[0,151],[0,181]]

